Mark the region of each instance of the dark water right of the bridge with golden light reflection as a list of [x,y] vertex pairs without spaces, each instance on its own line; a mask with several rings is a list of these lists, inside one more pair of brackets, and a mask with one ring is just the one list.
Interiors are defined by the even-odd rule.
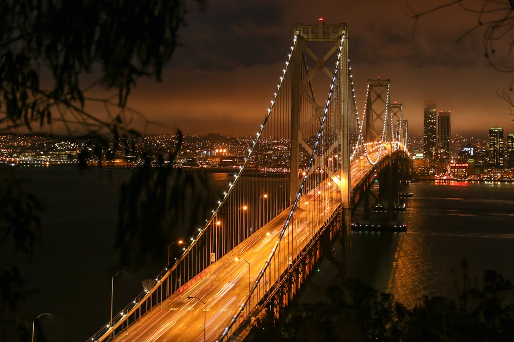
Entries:
[[[354,233],[353,276],[412,307],[424,296],[454,296],[461,260],[480,279],[487,269],[514,279],[514,185],[410,184],[406,233]],[[463,186],[464,185],[464,186]]]

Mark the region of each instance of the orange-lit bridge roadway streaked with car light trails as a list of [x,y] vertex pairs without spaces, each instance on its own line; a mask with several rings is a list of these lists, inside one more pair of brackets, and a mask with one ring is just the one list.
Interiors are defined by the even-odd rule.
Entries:
[[[371,166],[367,162],[355,164],[361,165],[357,167],[354,173],[358,176],[356,179],[352,179],[355,182],[354,184],[357,184]],[[330,180],[325,182],[329,183]],[[327,184],[324,185],[328,186]],[[336,185],[332,182],[330,186],[335,187]],[[293,259],[308,243],[310,237],[323,225],[324,222],[321,220],[314,222],[316,221],[317,211],[322,212],[320,216],[330,217],[339,206],[340,198],[328,198],[324,195],[324,193],[331,193],[332,190],[335,190],[335,188],[328,191],[325,189],[320,193],[318,189],[313,189],[301,197],[299,203],[302,204],[299,206],[298,212],[300,222],[297,229],[288,229],[283,237],[283,240],[289,239],[289,243],[296,246],[296,249],[293,250]],[[287,208],[228,254],[184,284],[170,299],[162,302],[162,307],[158,305],[152,309],[151,314],[143,315],[138,322],[129,326],[126,332],[123,331],[118,334],[114,341],[203,341],[204,304],[197,299],[188,299],[188,296],[199,297],[207,303],[206,339],[207,341],[215,341],[215,338],[229,324],[237,309],[240,308],[248,296],[248,264],[243,260],[235,261],[234,258],[244,258],[250,262],[250,279],[253,285],[274,244],[277,243],[276,236],[280,234],[290,210],[291,207]],[[296,224],[296,219],[292,219],[291,223]],[[308,231],[309,229],[310,231]],[[266,233],[270,233],[269,236]],[[281,242],[281,249],[284,249],[284,243],[287,243],[287,241]],[[281,265],[279,273],[286,266],[287,256],[285,254],[280,251],[279,260]],[[261,281],[262,285],[259,289],[261,296],[269,290],[270,284],[276,280],[273,276],[276,270],[277,265],[273,265],[273,262],[271,262],[270,268],[266,271],[267,284]]]

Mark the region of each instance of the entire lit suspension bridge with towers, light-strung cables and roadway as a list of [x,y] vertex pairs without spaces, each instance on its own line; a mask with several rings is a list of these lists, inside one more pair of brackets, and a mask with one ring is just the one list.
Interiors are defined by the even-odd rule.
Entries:
[[383,201],[395,205],[407,121],[389,80],[369,80],[359,115],[347,35],[321,19],[295,26],[264,120],[212,215],[88,341],[241,340],[279,317],[338,233],[349,258],[353,211],[377,177],[394,184]]

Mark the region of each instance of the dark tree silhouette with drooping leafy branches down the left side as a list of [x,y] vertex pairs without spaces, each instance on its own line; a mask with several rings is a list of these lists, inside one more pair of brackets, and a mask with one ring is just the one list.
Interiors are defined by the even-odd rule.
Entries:
[[[196,2],[205,5],[204,0]],[[179,184],[185,183],[188,193],[201,185],[170,166],[180,148],[180,132],[173,153],[155,155],[149,148],[135,147],[141,132],[131,126],[134,118],[152,122],[126,106],[137,80],[161,80],[179,45],[185,16],[185,0],[0,2],[0,133],[42,134],[57,125],[67,132],[63,139],[86,142],[80,155],[83,167],[90,157],[101,165],[119,150],[145,160],[123,185],[119,211],[117,248],[126,251],[127,244],[135,244],[132,252],[138,256],[155,248],[153,241],[137,240],[143,230],[173,240],[170,218],[180,217],[182,210],[175,206],[183,196]],[[42,207],[24,192],[15,174],[2,169],[0,178],[0,248],[11,255],[21,251],[30,259]],[[163,198],[159,211],[145,210]],[[128,214],[133,207],[138,210]],[[149,215],[156,226],[143,225]],[[134,253],[122,262],[136,259]],[[7,260],[0,268],[0,340],[29,339],[33,317],[17,311],[29,295],[16,263]]]

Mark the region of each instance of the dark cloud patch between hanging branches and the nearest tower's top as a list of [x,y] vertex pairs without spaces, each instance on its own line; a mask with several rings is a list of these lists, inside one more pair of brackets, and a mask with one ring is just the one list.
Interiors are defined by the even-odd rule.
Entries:
[[281,2],[209,2],[205,12],[187,17],[188,27],[180,31],[183,47],[172,67],[215,70],[276,63],[277,47],[286,46],[278,29],[283,18]]

